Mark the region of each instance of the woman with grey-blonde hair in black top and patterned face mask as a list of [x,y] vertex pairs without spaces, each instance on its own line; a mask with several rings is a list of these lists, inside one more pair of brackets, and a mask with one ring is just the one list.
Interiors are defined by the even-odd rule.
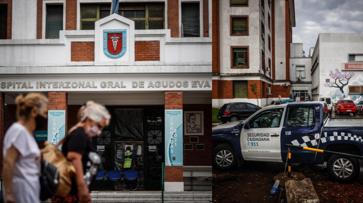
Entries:
[[101,130],[109,124],[111,115],[101,105],[88,101],[78,111],[79,122],[69,130],[62,146],[62,153],[76,168],[76,177],[72,182],[70,194],[52,198],[53,203],[89,203],[91,201],[89,186],[97,173],[101,158],[96,153],[90,137],[101,134]]

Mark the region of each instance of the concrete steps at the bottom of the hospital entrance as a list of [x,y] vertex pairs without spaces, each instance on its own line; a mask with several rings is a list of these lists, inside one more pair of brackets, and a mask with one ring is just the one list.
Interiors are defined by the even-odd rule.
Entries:
[[[161,191],[93,191],[93,203],[161,203]],[[46,201],[50,202],[50,201]],[[164,203],[210,203],[212,191],[164,192]]]

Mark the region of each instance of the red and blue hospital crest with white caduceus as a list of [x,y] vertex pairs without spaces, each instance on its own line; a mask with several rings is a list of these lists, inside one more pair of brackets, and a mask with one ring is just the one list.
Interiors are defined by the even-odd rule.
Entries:
[[103,30],[103,53],[110,58],[120,58],[126,53],[126,29]]

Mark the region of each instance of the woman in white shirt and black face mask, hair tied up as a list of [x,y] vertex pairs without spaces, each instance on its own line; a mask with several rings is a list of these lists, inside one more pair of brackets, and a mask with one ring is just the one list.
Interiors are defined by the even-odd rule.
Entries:
[[38,93],[15,99],[17,122],[4,137],[4,188],[7,203],[40,202],[40,150],[33,131],[47,124],[48,99]]

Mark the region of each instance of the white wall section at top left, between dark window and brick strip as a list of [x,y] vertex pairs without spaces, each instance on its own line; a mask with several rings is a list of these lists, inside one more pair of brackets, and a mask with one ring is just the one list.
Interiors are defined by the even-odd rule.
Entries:
[[13,0],[12,39],[37,38],[37,0]]

